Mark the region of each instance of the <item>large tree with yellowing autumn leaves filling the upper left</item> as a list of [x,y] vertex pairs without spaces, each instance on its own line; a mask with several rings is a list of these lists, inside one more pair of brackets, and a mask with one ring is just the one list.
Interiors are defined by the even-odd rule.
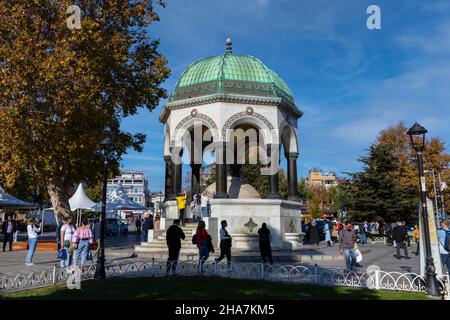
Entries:
[[[161,2],[158,2],[162,4]],[[81,28],[67,27],[70,5]],[[113,141],[111,172],[145,135],[121,119],[154,109],[169,70],[149,38],[154,1],[0,1],[0,179],[43,185],[59,218],[80,181],[102,173],[100,142]]]

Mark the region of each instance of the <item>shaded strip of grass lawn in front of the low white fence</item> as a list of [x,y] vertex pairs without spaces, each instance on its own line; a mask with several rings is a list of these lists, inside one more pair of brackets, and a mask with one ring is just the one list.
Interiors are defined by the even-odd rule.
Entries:
[[81,290],[65,286],[22,291],[2,299],[277,299],[277,300],[424,300],[422,293],[375,291],[364,288],[337,288],[275,283],[220,277],[111,278],[81,283]]

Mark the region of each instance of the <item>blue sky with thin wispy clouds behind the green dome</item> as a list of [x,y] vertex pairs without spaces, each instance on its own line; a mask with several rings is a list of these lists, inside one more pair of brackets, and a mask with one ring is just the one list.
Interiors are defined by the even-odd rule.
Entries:
[[[371,4],[381,8],[381,30],[366,27]],[[167,0],[157,11],[149,32],[172,70],[169,93],[189,64],[222,54],[227,37],[233,53],[256,56],[286,81],[304,112],[299,176],[359,170],[377,133],[401,120],[449,146],[448,0]],[[164,189],[163,103],[122,122],[147,134],[144,151],[130,151],[122,167],[145,171],[151,191]]]

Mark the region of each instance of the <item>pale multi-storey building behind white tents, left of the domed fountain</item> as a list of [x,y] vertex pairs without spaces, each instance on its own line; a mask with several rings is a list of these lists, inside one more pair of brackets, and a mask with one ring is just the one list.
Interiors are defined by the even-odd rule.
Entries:
[[107,194],[109,195],[118,184],[122,184],[128,197],[144,207],[150,207],[148,181],[142,171],[123,171],[120,176],[108,180]]

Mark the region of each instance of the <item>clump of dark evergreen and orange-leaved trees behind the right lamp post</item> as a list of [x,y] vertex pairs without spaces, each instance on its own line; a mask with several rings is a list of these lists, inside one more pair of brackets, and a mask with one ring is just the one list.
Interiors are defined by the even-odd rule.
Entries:
[[[364,168],[352,175],[352,209],[359,219],[416,219],[419,181],[416,155],[407,130],[400,122],[381,131],[370,146],[369,154],[360,159]],[[437,137],[428,137],[423,156],[425,169],[442,173],[443,182],[448,183],[450,155],[446,153],[444,142]],[[433,199],[433,179],[427,176],[426,181],[428,196]],[[444,195],[446,208],[450,204],[448,191]]]

